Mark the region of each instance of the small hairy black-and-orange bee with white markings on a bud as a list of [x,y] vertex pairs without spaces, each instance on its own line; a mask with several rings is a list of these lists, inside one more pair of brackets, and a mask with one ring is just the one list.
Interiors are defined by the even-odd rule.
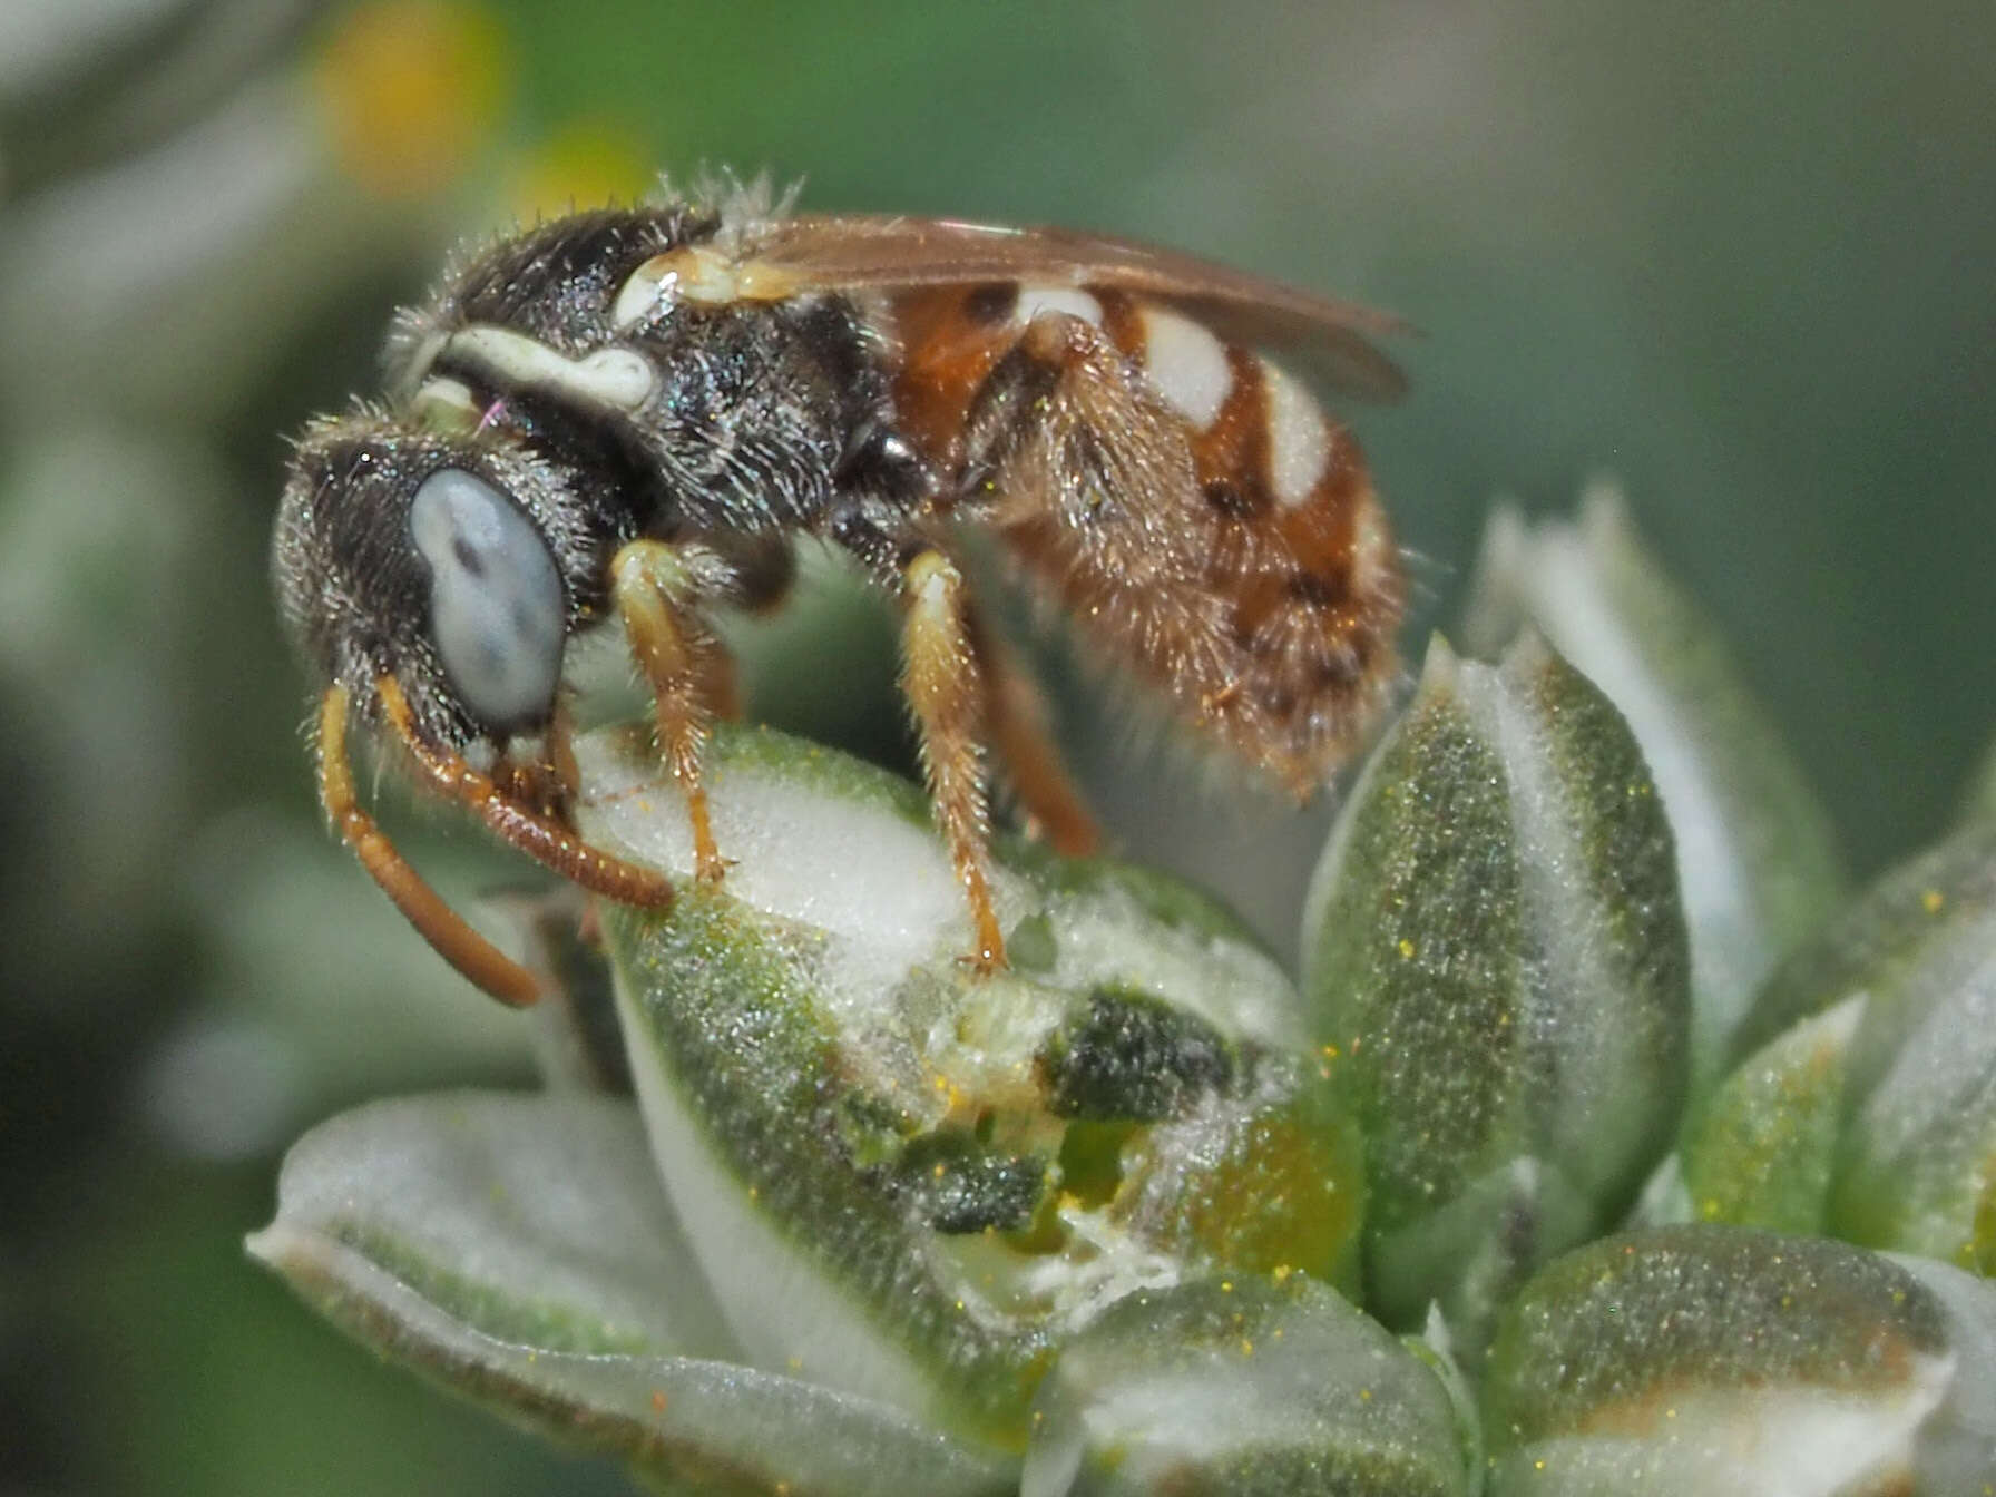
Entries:
[[1393,399],[1373,339],[1399,327],[1126,240],[796,216],[754,188],[501,240],[401,313],[389,401],[295,445],[273,575],[325,683],[325,812],[437,952],[531,1002],[359,804],[349,723],[559,874],[665,906],[661,872],[571,824],[565,647],[623,627],[719,882],[701,758],[735,703],[711,621],[780,603],[810,537],[898,601],[966,960],[998,970],[986,750],[1058,850],[1098,834],[966,537],[1170,719],[1307,798],[1391,693],[1405,589],[1359,447],[1299,373]]

